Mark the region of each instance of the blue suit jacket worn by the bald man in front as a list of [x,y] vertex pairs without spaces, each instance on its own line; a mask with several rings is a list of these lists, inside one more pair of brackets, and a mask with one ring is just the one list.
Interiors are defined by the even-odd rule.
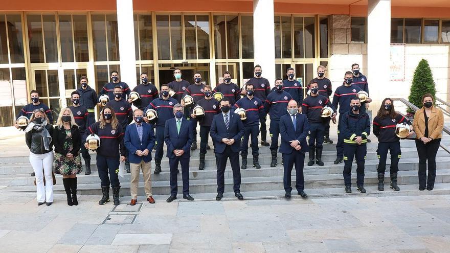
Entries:
[[280,135],[281,145],[279,152],[282,154],[291,154],[292,151],[298,152],[295,148],[290,146],[290,141],[297,140],[300,142],[299,152],[306,153],[309,151],[308,144],[306,142],[306,136],[308,135],[309,125],[308,119],[305,114],[297,113],[297,127],[294,130],[294,123],[292,123],[292,117],[290,114],[284,114],[280,118]]

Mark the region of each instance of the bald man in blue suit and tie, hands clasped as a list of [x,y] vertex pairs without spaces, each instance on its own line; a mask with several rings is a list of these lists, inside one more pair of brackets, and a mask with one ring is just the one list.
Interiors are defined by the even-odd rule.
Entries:
[[305,178],[303,177],[303,165],[305,162],[305,153],[309,151],[306,143],[306,136],[308,135],[309,125],[305,114],[298,112],[297,102],[295,100],[289,101],[287,104],[288,114],[280,118],[280,134],[281,145],[280,153],[284,158],[284,194],[285,198],[290,198],[291,187],[291,172],[292,167],[296,167],[296,189],[302,198],[307,198],[308,195],[303,191],[305,188]]

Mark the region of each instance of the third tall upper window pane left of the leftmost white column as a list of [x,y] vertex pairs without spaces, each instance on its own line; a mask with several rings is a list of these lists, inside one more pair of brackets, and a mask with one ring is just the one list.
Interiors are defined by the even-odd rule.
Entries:
[[74,23],[75,60],[77,62],[89,61],[86,15],[73,15],[72,19]]

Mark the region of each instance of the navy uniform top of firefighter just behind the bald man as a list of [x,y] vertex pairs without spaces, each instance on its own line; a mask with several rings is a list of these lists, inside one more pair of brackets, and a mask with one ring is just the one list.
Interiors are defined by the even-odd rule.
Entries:
[[286,91],[278,92],[274,90],[267,96],[264,103],[266,113],[269,113],[271,120],[280,120],[280,117],[286,114],[287,103],[292,97]]

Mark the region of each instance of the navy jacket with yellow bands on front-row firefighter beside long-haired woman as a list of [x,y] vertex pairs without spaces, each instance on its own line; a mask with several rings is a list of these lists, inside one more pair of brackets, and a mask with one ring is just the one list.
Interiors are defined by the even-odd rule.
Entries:
[[352,110],[346,112],[342,117],[341,134],[344,143],[354,144],[357,136],[363,137],[363,143],[367,143],[367,136],[370,134],[370,119],[366,112],[353,113]]

